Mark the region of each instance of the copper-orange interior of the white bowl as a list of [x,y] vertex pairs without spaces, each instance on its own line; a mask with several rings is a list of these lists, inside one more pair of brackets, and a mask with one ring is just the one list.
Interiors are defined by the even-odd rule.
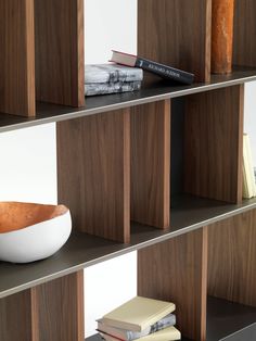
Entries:
[[65,214],[64,205],[41,205],[20,202],[0,203],[0,233],[26,228]]

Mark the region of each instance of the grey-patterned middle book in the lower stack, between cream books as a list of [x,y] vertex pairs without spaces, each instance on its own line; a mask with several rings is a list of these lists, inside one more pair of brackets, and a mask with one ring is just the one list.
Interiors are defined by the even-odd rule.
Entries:
[[176,316],[174,314],[169,314],[164,318],[159,319],[153,326],[145,328],[142,331],[131,331],[120,328],[115,328],[112,326],[106,326],[102,323],[102,319],[98,321],[98,331],[107,333],[108,336],[113,336],[117,339],[121,339],[125,341],[133,341],[136,339],[140,339],[150,333],[156,332],[158,330],[165,329],[167,327],[172,327],[176,324]]

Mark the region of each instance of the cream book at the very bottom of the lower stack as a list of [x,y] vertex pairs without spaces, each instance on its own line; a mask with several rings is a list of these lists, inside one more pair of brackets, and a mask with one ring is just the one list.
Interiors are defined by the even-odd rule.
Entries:
[[[105,334],[101,332],[102,338],[104,338],[106,341],[117,341],[120,339],[116,339],[112,336]],[[178,329],[175,327],[168,327],[163,330],[156,331],[154,333],[151,333],[146,337],[138,339],[138,341],[172,341],[172,340],[180,340],[181,333]]]

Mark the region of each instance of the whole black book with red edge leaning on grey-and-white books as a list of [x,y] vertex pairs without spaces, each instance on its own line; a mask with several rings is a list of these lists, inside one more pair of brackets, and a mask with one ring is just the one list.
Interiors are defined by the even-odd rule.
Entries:
[[191,85],[194,81],[194,74],[128,53],[113,51],[111,62],[131,67],[140,67],[163,78],[187,85]]

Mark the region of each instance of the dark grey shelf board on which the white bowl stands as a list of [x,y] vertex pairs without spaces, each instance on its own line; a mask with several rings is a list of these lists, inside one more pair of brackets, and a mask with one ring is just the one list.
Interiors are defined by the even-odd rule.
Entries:
[[0,262],[0,299],[252,209],[256,209],[256,199],[234,205],[180,195],[172,201],[169,229],[132,224],[129,244],[73,232],[65,247],[46,261],[27,265]]

